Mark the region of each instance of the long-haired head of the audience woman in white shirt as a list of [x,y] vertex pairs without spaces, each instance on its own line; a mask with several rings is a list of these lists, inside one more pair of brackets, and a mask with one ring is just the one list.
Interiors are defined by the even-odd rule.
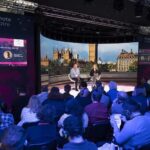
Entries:
[[33,95],[30,97],[28,107],[30,108],[32,112],[37,113],[40,105],[41,103],[37,95]]

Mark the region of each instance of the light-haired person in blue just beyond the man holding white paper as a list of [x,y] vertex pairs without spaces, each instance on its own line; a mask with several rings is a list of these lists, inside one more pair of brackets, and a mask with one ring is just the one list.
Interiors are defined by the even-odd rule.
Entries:
[[123,104],[128,100],[128,95],[126,92],[119,91],[117,98],[113,101],[111,106],[112,114],[122,114],[123,113]]

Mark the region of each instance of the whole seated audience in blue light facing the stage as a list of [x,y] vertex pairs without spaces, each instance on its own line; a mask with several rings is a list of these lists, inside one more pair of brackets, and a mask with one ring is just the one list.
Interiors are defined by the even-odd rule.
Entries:
[[52,87],[49,92],[44,87],[29,98],[21,90],[10,111],[0,101],[0,149],[34,150],[47,145],[50,150],[97,150],[114,143],[124,150],[142,150],[150,144],[147,85],[126,93],[118,91],[114,81],[109,82],[108,92],[100,81],[92,91],[81,82],[76,97],[70,94],[70,85],[64,91]]

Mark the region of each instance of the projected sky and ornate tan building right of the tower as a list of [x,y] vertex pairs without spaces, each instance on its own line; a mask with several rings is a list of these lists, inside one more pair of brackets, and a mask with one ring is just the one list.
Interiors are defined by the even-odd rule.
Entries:
[[98,64],[103,72],[137,72],[138,42],[99,44]]

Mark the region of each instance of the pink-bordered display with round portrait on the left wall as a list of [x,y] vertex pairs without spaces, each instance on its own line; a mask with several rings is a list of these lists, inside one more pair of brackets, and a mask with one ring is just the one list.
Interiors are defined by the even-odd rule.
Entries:
[[27,41],[23,39],[0,38],[0,65],[26,66]]

